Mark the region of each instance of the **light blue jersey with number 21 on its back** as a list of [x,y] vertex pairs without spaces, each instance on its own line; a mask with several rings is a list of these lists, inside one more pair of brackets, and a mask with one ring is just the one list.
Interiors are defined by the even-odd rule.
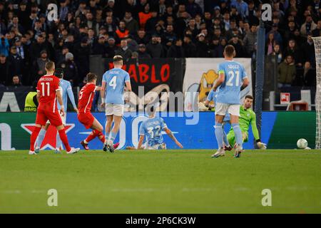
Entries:
[[216,101],[225,104],[240,104],[240,88],[247,77],[242,64],[224,61],[218,65],[218,74],[224,73],[225,81],[218,88]]

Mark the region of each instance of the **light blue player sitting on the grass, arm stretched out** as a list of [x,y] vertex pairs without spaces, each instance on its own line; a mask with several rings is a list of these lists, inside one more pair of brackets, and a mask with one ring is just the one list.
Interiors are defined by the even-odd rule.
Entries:
[[150,110],[148,108],[148,120],[141,123],[139,128],[139,142],[137,149],[142,149],[143,141],[146,136],[146,149],[148,150],[162,150],[166,149],[166,145],[163,142],[162,130],[178,145],[178,147],[183,148],[183,145],[178,142],[173,133],[168,129],[163,118],[155,117],[156,109],[151,106]]

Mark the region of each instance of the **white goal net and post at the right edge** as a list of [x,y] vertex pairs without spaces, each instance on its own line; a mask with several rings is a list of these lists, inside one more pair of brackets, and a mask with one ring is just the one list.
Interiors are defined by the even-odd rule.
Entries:
[[321,149],[321,36],[312,38],[315,43],[315,61],[317,71],[317,90],[315,93],[315,149]]

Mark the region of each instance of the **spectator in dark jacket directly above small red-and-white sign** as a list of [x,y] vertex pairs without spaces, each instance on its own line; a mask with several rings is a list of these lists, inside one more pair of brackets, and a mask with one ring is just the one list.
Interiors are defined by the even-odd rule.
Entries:
[[292,56],[286,56],[285,61],[280,63],[277,68],[278,81],[277,87],[290,87],[295,80],[296,70]]

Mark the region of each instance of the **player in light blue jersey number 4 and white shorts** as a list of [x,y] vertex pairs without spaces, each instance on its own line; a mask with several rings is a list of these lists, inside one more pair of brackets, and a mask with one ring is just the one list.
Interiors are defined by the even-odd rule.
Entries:
[[[124,98],[123,92],[126,86],[131,91],[131,80],[128,72],[124,71],[123,57],[113,57],[114,68],[103,74],[103,82],[101,85],[101,106],[106,108],[106,128],[105,143],[103,150],[113,152],[113,140],[115,140],[121,120],[123,118]],[[106,92],[106,93],[105,93]],[[111,124],[114,122],[113,129]]]

